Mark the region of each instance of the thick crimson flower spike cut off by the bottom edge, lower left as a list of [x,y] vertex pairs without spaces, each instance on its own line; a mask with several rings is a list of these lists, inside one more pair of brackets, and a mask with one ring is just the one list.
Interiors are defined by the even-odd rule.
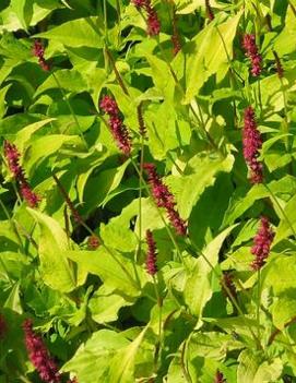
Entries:
[[50,357],[48,349],[40,337],[33,330],[33,322],[25,320],[23,323],[25,333],[25,346],[28,352],[29,360],[38,371],[43,382],[59,383],[61,376],[55,360]]

